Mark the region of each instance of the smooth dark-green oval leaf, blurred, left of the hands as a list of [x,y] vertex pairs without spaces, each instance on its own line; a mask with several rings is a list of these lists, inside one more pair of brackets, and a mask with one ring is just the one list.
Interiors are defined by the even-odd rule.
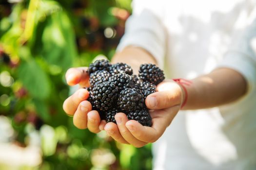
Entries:
[[20,81],[35,99],[46,99],[50,95],[50,80],[39,64],[30,59],[18,68]]

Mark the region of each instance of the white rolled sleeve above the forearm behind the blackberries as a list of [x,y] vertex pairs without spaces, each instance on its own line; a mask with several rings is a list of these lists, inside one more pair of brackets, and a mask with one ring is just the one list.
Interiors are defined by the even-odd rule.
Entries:
[[[163,26],[163,10],[156,0],[133,0],[133,14],[125,24],[125,34],[117,51],[127,46],[141,47],[151,53],[163,68],[166,53],[166,31]],[[139,57],[139,56],[138,56]]]

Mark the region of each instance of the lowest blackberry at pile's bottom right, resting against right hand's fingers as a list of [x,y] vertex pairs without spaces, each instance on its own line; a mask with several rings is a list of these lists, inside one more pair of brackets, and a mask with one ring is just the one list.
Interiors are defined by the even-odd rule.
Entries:
[[130,112],[127,118],[129,120],[136,120],[143,126],[152,126],[152,118],[146,108]]

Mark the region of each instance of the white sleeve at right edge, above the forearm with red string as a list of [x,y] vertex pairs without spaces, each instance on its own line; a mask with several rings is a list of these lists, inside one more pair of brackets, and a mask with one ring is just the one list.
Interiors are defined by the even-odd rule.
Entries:
[[237,32],[229,51],[218,67],[232,68],[246,79],[248,92],[256,90],[256,10],[249,18],[248,26]]

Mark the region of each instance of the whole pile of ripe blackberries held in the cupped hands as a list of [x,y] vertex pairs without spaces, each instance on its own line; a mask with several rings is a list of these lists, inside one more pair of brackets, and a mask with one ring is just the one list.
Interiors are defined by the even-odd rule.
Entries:
[[137,120],[143,126],[152,126],[152,118],[145,99],[156,92],[156,85],[164,80],[164,74],[154,64],[140,66],[139,75],[125,63],[111,64],[97,60],[88,68],[90,87],[87,88],[93,110],[101,119],[114,122],[118,112],[125,113],[129,120]]

